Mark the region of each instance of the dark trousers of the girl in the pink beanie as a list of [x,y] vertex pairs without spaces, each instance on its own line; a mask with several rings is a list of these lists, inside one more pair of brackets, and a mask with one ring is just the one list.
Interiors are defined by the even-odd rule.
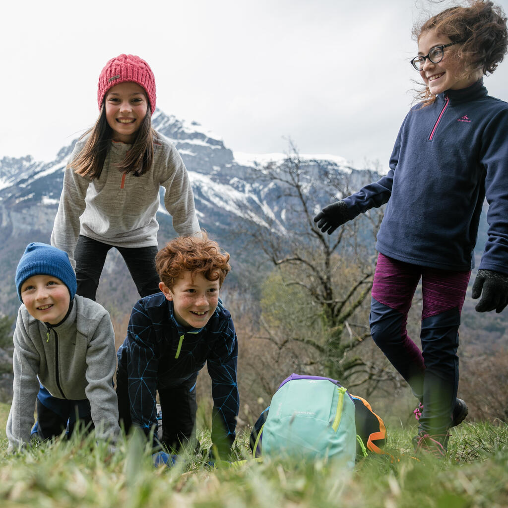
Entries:
[[[111,247],[112,245],[79,235],[74,250],[78,295],[91,300],[96,299],[99,279]],[[160,279],[155,270],[157,247],[153,245],[138,248],[116,247],[116,249],[124,259],[141,298],[158,293]]]

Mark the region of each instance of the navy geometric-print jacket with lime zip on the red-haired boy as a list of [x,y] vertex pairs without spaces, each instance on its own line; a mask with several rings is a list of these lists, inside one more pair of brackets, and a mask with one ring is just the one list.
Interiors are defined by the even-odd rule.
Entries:
[[238,341],[231,314],[219,303],[203,328],[184,329],[163,293],[138,300],[127,336],[118,348],[118,367],[129,381],[133,425],[147,434],[156,426],[158,387],[177,386],[205,363],[212,380],[212,442],[222,448],[235,440],[240,406],[236,381]]

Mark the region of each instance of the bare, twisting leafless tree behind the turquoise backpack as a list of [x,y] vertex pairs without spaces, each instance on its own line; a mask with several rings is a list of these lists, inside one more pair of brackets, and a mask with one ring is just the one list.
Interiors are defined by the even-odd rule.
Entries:
[[[304,159],[290,142],[284,161],[255,168],[247,176],[260,199],[257,209],[245,210],[243,224],[235,231],[245,239],[251,257],[268,260],[275,270],[274,286],[279,284],[292,296],[285,322],[261,314],[258,337],[301,369],[355,384],[377,385],[393,377],[385,362],[366,361],[356,353],[370,336],[367,303],[374,238],[383,212],[371,210],[332,235],[323,234],[313,217],[327,204],[376,180],[376,170]],[[294,326],[288,326],[290,321]]]

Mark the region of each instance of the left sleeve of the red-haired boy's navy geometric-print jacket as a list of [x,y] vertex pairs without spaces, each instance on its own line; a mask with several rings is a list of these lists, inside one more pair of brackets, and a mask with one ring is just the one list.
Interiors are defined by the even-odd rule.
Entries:
[[132,423],[148,436],[157,425],[155,396],[157,387],[158,347],[153,323],[138,301],[127,329],[129,362],[127,364]]

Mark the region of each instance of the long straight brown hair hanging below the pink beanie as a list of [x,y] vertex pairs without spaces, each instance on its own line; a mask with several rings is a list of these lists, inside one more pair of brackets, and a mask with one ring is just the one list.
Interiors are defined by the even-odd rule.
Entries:
[[[111,146],[113,130],[106,120],[106,109],[101,106],[99,118],[91,129],[80,139],[89,134],[85,146],[68,164],[80,176],[93,180],[99,178],[104,167],[106,155]],[[146,173],[153,162],[153,146],[157,143],[157,133],[152,128],[151,111],[147,108],[146,115],[139,126],[132,148],[125,154],[123,161],[116,165],[121,173],[134,173],[140,176]]]

